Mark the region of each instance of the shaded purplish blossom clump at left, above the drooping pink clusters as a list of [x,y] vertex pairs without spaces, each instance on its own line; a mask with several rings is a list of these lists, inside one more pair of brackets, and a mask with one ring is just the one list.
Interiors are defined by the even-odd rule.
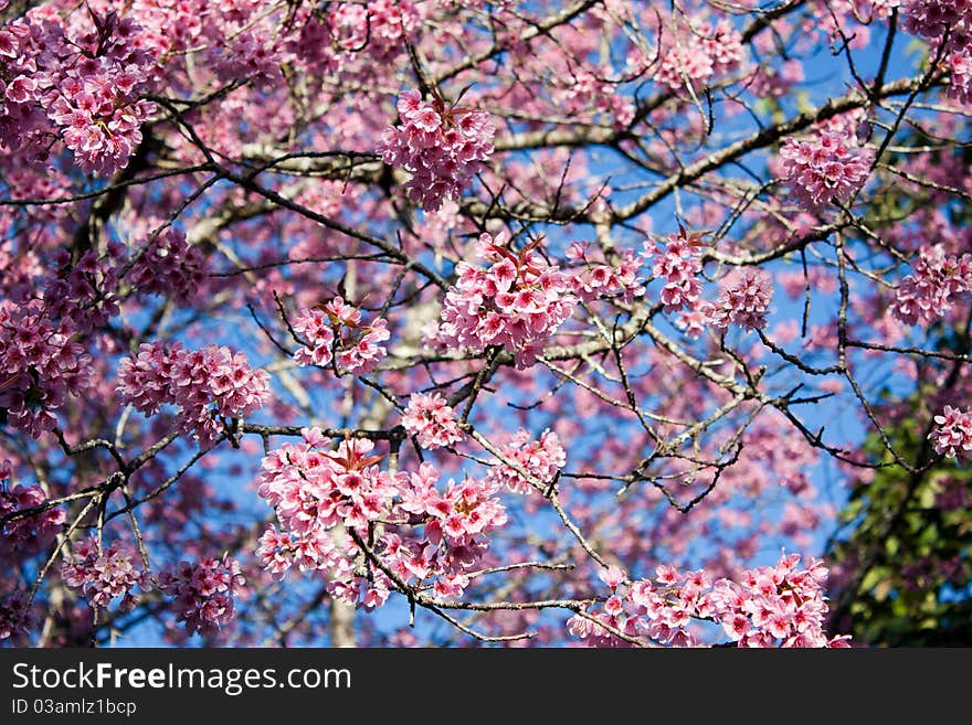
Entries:
[[140,292],[189,303],[205,280],[205,265],[202,253],[170,226],[136,254],[127,279]]

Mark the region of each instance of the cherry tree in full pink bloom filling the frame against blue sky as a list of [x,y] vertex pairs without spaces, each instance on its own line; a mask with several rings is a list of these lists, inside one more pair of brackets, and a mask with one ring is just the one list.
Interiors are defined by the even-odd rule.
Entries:
[[0,17],[4,644],[866,646],[972,599],[972,3]]

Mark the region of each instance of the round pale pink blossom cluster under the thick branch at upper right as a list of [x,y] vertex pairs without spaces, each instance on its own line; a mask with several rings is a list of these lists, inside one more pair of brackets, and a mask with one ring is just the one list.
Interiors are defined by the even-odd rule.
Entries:
[[821,125],[804,140],[788,138],[780,149],[794,199],[807,211],[845,202],[867,181],[874,151],[862,147],[846,124]]

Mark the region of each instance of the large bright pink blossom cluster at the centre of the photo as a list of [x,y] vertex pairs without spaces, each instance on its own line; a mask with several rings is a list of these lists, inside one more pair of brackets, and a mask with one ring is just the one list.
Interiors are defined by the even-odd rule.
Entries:
[[536,245],[514,253],[503,236],[480,235],[476,256],[486,264],[458,264],[433,342],[473,350],[503,345],[514,351],[517,367],[532,364],[578,302],[570,278],[535,252]]

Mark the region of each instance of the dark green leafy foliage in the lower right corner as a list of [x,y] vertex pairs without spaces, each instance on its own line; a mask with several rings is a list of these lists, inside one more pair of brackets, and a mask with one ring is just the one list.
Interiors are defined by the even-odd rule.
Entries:
[[[928,444],[917,419],[888,430],[908,460]],[[887,463],[858,481],[831,545],[832,625],[876,647],[972,646],[972,468],[938,461],[909,473],[875,434],[866,444]]]

